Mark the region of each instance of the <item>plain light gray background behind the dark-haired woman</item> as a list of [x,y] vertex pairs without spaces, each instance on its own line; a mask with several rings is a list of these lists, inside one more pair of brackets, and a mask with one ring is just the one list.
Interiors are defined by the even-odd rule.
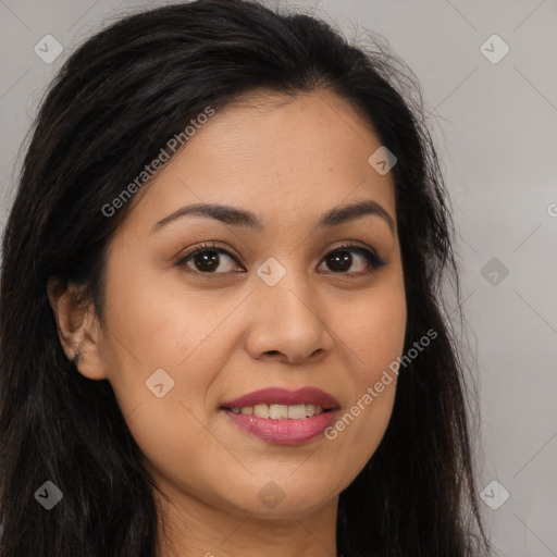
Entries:
[[[106,23],[163,3],[0,0],[2,226],[20,145],[54,72]],[[557,2],[265,3],[312,9],[349,38],[377,32],[418,75],[459,231],[481,387],[480,490],[497,480],[510,494],[482,507],[500,555],[557,556]],[[48,34],[64,47],[51,64],[34,52]],[[494,34],[510,48],[498,63],[480,49]],[[484,52],[502,48],[491,40]],[[485,500],[496,507],[502,493],[492,485]]]

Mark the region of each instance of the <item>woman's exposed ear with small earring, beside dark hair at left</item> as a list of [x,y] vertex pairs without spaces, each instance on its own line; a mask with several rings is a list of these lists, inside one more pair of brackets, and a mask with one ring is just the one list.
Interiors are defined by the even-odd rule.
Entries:
[[102,332],[95,306],[84,295],[83,287],[65,285],[51,276],[47,293],[58,324],[60,343],[67,357],[73,360],[82,375],[88,379],[107,379],[101,357]]

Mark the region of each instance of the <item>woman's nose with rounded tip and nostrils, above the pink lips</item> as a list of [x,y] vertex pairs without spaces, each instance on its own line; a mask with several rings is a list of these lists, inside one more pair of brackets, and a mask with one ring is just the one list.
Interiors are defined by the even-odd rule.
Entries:
[[314,362],[333,347],[323,293],[294,274],[286,273],[274,286],[260,282],[250,296],[246,349],[256,360]]

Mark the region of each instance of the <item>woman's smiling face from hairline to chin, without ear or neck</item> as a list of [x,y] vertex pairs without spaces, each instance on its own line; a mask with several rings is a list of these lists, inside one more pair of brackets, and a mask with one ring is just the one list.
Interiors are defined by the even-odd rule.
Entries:
[[368,162],[380,147],[330,92],[246,96],[131,201],[97,376],[176,500],[302,516],[375,451],[396,380],[374,385],[406,326],[393,182]]

